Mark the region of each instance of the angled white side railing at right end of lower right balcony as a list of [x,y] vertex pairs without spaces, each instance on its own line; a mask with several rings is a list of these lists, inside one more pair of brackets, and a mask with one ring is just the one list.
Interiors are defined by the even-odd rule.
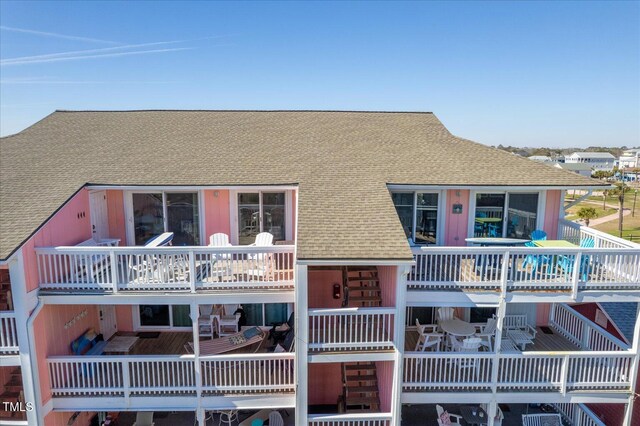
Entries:
[[564,303],[554,303],[549,326],[585,351],[625,351],[629,345]]

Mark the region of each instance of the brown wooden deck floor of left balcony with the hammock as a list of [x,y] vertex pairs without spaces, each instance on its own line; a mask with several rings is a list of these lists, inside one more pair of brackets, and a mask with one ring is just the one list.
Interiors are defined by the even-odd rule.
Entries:
[[[135,332],[118,332],[119,336],[136,336]],[[209,337],[200,337],[200,341],[209,340]],[[187,354],[185,345],[193,341],[193,334],[187,331],[163,331],[158,337],[139,338],[133,345],[129,355],[184,355]],[[235,351],[225,352],[225,354],[238,353],[264,353],[270,345],[269,338],[259,345],[245,346]]]

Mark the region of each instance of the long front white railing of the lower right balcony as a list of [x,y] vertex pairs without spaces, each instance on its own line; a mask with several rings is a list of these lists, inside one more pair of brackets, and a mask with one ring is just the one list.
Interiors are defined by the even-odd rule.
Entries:
[[[494,358],[498,362],[494,363]],[[628,352],[523,352],[404,355],[405,391],[629,391],[634,356]]]

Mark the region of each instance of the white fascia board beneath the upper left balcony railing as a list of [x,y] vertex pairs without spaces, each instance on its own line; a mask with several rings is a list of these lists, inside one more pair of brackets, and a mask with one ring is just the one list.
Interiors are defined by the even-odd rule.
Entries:
[[294,303],[294,290],[269,292],[208,293],[208,294],[40,294],[43,303],[49,305],[189,305],[234,303]]

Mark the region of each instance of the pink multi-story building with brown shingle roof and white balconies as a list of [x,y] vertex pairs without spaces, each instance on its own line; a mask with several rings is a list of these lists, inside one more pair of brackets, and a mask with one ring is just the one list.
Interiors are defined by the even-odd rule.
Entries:
[[599,425],[597,403],[632,424],[637,312],[624,342],[571,308],[640,296],[638,245],[563,219],[565,191],[601,181],[430,113],[56,112],[0,148],[1,377],[23,422],[429,424],[471,404],[494,425],[553,403]]

